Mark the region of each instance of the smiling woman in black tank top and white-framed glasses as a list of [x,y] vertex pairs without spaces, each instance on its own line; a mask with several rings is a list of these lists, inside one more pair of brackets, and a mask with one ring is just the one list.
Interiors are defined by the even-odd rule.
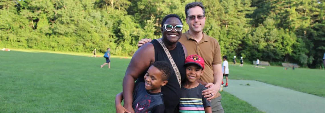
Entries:
[[[181,25],[181,26],[178,26]],[[177,15],[167,15],[162,20],[162,41],[169,50],[179,72],[181,75],[181,81],[185,79],[185,58],[187,50],[178,40],[182,36],[183,22]],[[134,88],[134,81],[144,81],[144,75],[146,74],[150,65],[156,61],[166,61],[169,64],[170,61],[160,45],[158,40],[152,40],[150,43],[146,43],[141,46],[134,56],[132,57],[129,66],[126,69],[125,77],[123,79],[123,98],[124,108],[129,111],[134,111],[132,108],[132,93]],[[177,81],[175,71],[172,70],[172,75],[165,86],[162,86],[163,102],[165,105],[164,113],[178,112],[177,105],[180,100],[180,86]],[[144,86],[143,86],[144,87]]]

